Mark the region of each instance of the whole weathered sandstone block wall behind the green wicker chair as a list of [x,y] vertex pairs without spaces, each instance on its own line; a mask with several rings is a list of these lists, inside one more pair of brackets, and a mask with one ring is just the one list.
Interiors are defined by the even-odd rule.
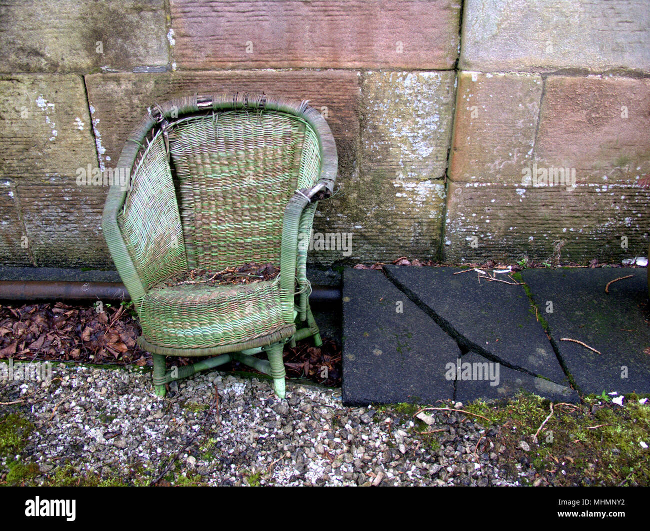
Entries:
[[[112,268],[107,190],[77,186],[78,169],[115,164],[151,103],[224,90],[307,99],[328,119],[340,190],[315,231],[352,233],[352,249],[311,262],[544,259],[560,240],[563,259],[644,255],[649,12],[642,0],[6,1],[0,264]],[[566,182],[543,186],[544,171]]]

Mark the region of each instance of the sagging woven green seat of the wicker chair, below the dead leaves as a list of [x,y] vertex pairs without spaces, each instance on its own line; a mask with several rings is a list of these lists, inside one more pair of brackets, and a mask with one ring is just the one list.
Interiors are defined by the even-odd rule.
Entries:
[[172,349],[212,349],[295,332],[285,322],[279,278],[250,284],[207,285],[159,282],[139,310],[142,336]]

